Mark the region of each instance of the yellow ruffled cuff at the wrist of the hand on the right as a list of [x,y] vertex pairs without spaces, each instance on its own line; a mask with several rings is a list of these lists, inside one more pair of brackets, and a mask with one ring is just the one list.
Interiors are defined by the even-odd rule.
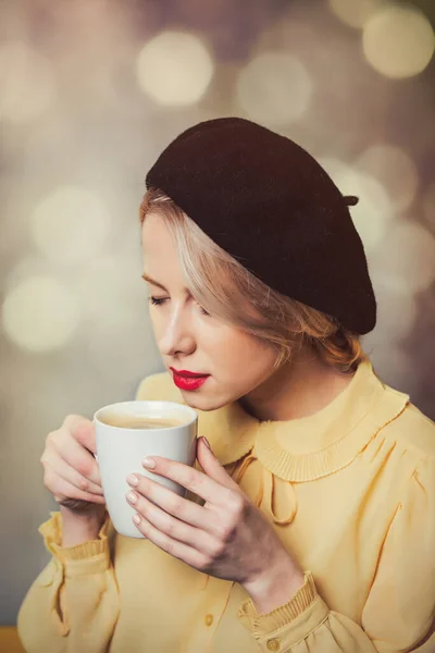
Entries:
[[238,619],[264,653],[289,650],[327,617],[330,608],[319,595],[311,571],[306,571],[303,579],[302,587],[291,599],[270,613],[259,615],[251,599],[241,604]]

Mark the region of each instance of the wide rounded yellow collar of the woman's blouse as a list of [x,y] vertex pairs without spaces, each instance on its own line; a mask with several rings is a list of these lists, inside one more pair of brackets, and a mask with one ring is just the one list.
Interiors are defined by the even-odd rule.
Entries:
[[[186,404],[169,372],[158,377],[164,387],[156,387],[157,398],[164,392],[167,401]],[[309,481],[348,465],[408,401],[409,395],[385,385],[366,359],[345,390],[314,415],[260,421],[233,402],[215,410],[196,409],[198,436],[207,436],[222,465],[237,463],[252,452],[278,478]]]

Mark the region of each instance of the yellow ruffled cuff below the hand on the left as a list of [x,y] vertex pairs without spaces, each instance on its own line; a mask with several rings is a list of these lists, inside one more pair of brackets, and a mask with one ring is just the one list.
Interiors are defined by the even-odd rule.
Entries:
[[61,546],[62,515],[60,512],[50,515],[50,519],[45,521],[38,531],[44,537],[46,549],[62,564],[67,563],[69,571],[99,574],[109,568],[109,534],[110,529],[113,528],[109,514],[105,515],[97,540],[89,540],[75,546]]

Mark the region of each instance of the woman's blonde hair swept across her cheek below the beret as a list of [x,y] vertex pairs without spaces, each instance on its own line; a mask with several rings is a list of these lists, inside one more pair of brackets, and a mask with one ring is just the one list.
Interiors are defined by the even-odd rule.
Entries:
[[368,357],[359,335],[335,318],[274,291],[216,245],[170,197],[149,188],[140,223],[158,213],[172,233],[186,286],[213,317],[250,333],[277,354],[274,369],[291,360],[302,344],[327,365],[352,372]]

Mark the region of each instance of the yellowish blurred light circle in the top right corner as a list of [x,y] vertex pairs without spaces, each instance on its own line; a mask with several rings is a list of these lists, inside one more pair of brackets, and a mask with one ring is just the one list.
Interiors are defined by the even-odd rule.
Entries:
[[411,5],[388,5],[365,23],[362,48],[370,65],[386,77],[418,75],[430,63],[435,35],[427,17]]

